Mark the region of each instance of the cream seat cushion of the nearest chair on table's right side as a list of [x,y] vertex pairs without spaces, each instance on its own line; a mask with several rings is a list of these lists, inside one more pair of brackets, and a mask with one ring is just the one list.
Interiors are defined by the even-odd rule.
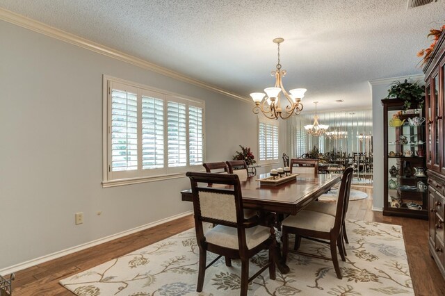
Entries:
[[314,231],[330,232],[334,227],[335,217],[313,211],[300,211],[283,220],[282,226]]

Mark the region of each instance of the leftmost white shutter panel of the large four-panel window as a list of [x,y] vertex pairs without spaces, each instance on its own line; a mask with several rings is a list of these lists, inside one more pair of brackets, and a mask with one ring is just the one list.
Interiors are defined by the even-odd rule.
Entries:
[[138,170],[138,96],[111,90],[111,171]]

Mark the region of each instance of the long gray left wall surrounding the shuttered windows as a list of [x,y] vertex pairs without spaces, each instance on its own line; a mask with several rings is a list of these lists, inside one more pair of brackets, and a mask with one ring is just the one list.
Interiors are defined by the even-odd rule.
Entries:
[[186,177],[102,188],[103,74],[204,100],[206,161],[258,155],[253,104],[8,22],[0,40],[0,270],[191,211]]

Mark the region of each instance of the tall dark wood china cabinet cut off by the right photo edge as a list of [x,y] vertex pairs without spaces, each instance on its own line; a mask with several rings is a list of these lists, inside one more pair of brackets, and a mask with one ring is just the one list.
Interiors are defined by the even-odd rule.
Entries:
[[428,175],[428,245],[439,270],[445,277],[445,34],[437,41],[431,57],[423,68],[426,94],[426,167]]

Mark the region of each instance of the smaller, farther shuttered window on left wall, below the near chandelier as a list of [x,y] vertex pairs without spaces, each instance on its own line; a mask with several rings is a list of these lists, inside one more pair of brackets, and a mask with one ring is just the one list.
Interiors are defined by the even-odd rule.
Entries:
[[278,160],[278,125],[263,120],[258,126],[259,161]]

